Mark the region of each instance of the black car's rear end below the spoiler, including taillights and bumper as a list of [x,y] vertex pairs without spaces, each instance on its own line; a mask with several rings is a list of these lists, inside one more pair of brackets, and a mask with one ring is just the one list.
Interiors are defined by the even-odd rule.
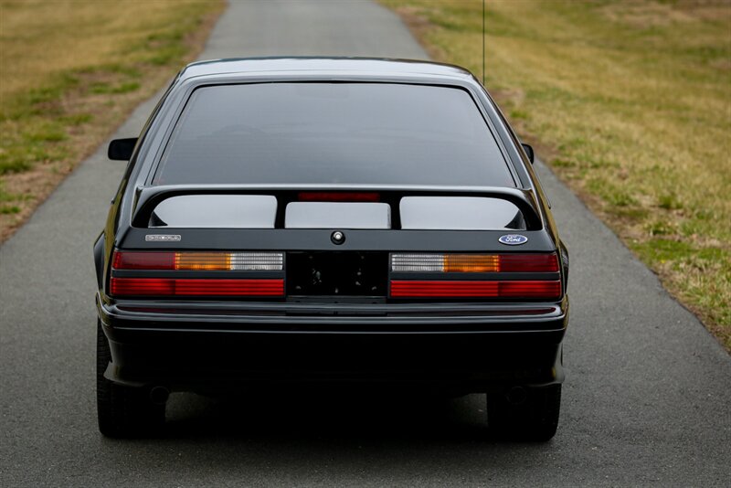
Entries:
[[494,230],[133,229],[99,295],[114,378],[555,382],[562,267],[545,232],[521,232],[514,249]]

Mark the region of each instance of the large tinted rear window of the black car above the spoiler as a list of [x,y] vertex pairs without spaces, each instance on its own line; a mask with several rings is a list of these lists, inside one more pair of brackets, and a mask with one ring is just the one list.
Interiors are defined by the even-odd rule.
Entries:
[[514,180],[464,90],[263,83],[195,90],[154,184],[514,186]]

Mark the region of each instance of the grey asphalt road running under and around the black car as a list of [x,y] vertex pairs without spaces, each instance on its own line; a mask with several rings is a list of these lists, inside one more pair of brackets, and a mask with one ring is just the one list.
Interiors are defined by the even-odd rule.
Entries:
[[[397,17],[355,1],[234,3],[201,58],[275,54],[426,58]],[[479,395],[175,395],[166,438],[102,438],[91,243],[123,170],[104,154],[0,248],[1,486],[728,485],[731,358],[540,164],[572,259],[553,441],[484,440]]]

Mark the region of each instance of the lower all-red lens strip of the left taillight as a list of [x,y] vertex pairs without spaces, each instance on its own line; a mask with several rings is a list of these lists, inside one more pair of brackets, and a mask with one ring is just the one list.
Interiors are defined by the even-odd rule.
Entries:
[[111,278],[114,296],[281,296],[284,280]]

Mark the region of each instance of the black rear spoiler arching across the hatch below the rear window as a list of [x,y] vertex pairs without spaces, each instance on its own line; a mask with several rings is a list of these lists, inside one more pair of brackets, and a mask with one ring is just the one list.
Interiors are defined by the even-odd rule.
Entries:
[[404,196],[483,196],[506,200],[523,213],[527,230],[543,228],[532,190],[499,186],[395,186],[395,185],[170,185],[138,186],[132,209],[132,226],[146,228],[163,200],[182,195],[271,195],[277,198],[275,228],[284,227],[284,209],[299,199],[300,192],[376,192],[388,203],[394,228],[400,228],[399,202]]

